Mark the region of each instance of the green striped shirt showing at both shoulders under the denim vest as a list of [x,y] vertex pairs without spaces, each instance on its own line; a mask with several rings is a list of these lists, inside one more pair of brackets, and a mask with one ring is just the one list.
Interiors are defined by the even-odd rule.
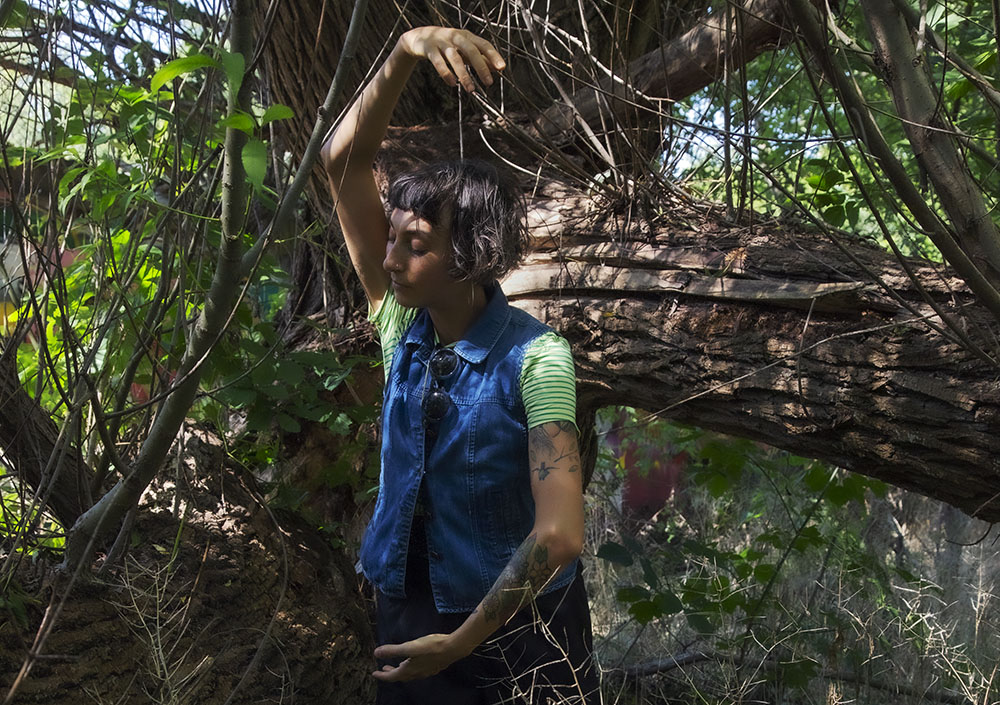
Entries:
[[[392,356],[399,339],[418,310],[401,306],[389,289],[378,310],[368,313],[382,343],[382,366],[386,375],[392,368]],[[555,332],[535,338],[524,353],[520,382],[528,428],[550,421],[569,421],[576,425],[576,369],[565,338]]]

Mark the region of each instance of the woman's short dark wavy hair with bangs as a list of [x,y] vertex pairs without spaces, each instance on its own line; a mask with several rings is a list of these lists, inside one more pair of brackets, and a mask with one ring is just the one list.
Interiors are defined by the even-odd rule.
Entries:
[[396,178],[389,209],[451,224],[455,279],[487,284],[512,270],[528,246],[525,205],[513,179],[478,159],[435,162]]

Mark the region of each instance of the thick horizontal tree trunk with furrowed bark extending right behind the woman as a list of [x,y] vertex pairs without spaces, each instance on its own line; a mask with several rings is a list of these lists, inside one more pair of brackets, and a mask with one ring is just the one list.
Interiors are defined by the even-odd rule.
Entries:
[[[1000,519],[995,368],[897,306],[832,244],[704,214],[642,234],[588,212],[599,205],[564,190],[539,199],[539,242],[560,248],[505,282],[516,305],[570,339],[581,405],[641,407]],[[702,226],[679,231],[682,220]],[[891,255],[850,244],[933,319]],[[996,328],[953,274],[911,265],[970,330]]]

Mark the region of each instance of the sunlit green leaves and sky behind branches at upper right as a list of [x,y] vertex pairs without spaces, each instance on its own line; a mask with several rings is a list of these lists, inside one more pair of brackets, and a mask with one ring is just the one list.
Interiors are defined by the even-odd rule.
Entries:
[[[1000,187],[996,155],[987,148],[998,137],[996,106],[982,77],[995,74],[997,46],[989,28],[992,9],[983,3],[909,3],[946,52],[924,41],[923,60],[940,92],[940,120],[965,148],[965,165],[981,192],[992,199]],[[862,4],[846,4],[831,18],[845,38],[835,49],[850,80],[864,96],[896,158],[922,197],[945,217],[940,201],[917,160],[893,97],[877,71]],[[691,96],[668,143],[665,163],[674,176],[706,196],[725,200],[733,214],[749,211],[818,217],[829,226],[877,240],[899,238],[911,256],[940,260],[941,253],[903,206],[863,135],[849,119],[829,83],[816,68],[797,60],[790,46],[742,67],[738,79]],[[961,57],[966,57],[963,63]],[[988,83],[988,79],[986,81]],[[985,94],[984,94],[985,92]],[[705,129],[708,126],[708,129]],[[728,126],[728,129],[727,129]],[[991,200],[995,211],[995,202]],[[886,220],[883,227],[878,222]],[[842,233],[844,235],[844,233]]]

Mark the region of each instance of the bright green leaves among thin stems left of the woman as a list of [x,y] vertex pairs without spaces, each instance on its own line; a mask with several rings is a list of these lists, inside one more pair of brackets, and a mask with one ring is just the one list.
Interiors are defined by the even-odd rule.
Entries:
[[[176,10],[170,22],[197,14]],[[150,19],[149,11],[136,17],[166,26],[168,18]],[[7,27],[26,32],[43,17],[14,3]],[[194,34],[170,26],[178,34],[153,33],[149,42],[111,52],[60,45],[52,60],[65,70],[50,76],[48,94],[36,84],[12,87],[35,111],[6,115],[8,127],[31,125],[4,129],[0,144],[4,183],[33,194],[5,209],[5,262],[21,263],[19,285],[6,288],[9,344],[17,346],[25,390],[86,449],[96,476],[84,481],[95,500],[131,472],[164,402],[192,374],[201,377],[201,390],[188,417],[215,424],[244,457],[276,460],[282,434],[305,424],[354,438],[373,415],[333,400],[353,367],[367,361],[284,349],[274,321],[289,278],[266,248],[248,262],[228,330],[182,370],[199,316],[216,305],[209,291],[224,244],[220,203],[231,186],[221,178],[227,132],[246,135],[237,158],[255,199],[238,237],[248,250],[285,188],[278,183],[284,173],[274,170],[283,155],[269,128],[294,114],[261,99],[247,61],[222,44],[216,22],[189,28]],[[244,82],[252,84],[252,105],[227,107],[224,98]],[[362,491],[351,471],[363,444],[352,442],[354,464],[345,452],[324,481]],[[4,506],[13,530],[24,520],[21,503]],[[42,545],[34,532],[12,535]]]

